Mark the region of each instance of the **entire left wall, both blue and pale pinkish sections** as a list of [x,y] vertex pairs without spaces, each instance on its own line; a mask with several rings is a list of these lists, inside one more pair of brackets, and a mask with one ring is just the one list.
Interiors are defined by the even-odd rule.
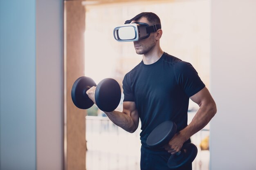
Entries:
[[0,170],[62,170],[63,1],[0,0]]

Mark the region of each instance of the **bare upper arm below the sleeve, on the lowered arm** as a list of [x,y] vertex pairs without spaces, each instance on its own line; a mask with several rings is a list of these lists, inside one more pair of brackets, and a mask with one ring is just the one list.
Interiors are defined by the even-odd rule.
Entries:
[[191,96],[190,99],[193,102],[197,103],[199,106],[201,106],[204,103],[214,102],[210,92],[206,87],[204,87],[198,93],[195,93],[195,95]]

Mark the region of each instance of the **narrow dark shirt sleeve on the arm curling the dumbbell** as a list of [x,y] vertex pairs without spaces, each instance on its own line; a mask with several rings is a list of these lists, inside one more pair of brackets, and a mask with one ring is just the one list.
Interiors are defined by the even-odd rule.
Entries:
[[131,89],[130,75],[127,73],[123,80],[124,102],[135,102]]

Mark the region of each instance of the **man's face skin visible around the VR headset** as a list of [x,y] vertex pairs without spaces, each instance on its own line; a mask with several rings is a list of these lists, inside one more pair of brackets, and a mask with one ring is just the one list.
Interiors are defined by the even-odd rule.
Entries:
[[[149,26],[152,25],[144,17],[141,17],[139,20],[137,20],[137,22],[144,22],[144,23],[147,23]],[[137,54],[146,54],[151,49],[153,49],[153,47],[156,44],[155,33],[150,33],[150,36],[148,38],[145,38],[139,41],[134,41],[133,44]]]

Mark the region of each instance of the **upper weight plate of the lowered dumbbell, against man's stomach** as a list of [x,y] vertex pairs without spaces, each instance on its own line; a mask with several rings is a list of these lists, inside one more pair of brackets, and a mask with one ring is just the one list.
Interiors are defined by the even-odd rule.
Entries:
[[176,130],[177,125],[173,121],[164,121],[150,132],[146,143],[150,148],[160,148],[173,138]]

